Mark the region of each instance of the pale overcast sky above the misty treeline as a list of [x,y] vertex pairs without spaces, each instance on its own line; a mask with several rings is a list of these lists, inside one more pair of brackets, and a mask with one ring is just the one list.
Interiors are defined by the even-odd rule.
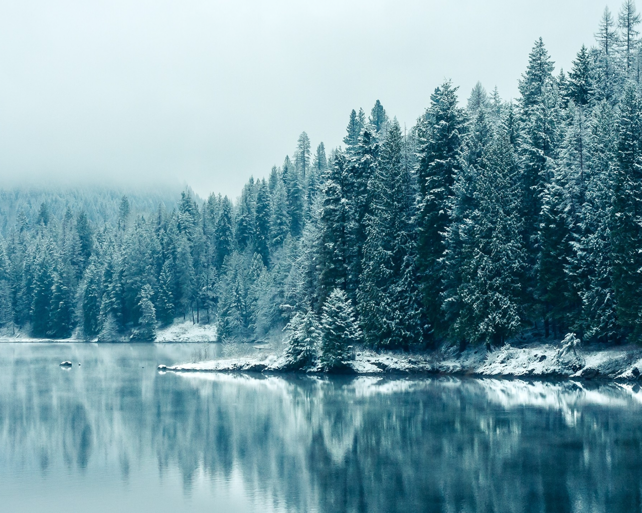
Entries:
[[[604,0],[0,0],[0,178],[180,181],[232,197],[378,98],[517,96],[535,38],[569,69]],[[642,5],[641,5],[642,6]]]

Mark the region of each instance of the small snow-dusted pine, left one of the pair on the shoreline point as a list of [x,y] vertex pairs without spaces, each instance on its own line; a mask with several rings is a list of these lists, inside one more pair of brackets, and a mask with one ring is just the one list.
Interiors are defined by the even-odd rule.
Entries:
[[284,331],[284,357],[288,368],[299,371],[313,367],[317,362],[318,348],[321,346],[321,327],[314,312],[308,310],[305,314],[297,313]]

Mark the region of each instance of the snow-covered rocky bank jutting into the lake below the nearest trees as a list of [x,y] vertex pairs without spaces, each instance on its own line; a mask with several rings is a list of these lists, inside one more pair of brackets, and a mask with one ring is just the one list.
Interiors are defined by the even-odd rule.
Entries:
[[[567,341],[568,342],[568,341]],[[575,349],[575,350],[574,350]],[[162,367],[177,372],[288,372],[283,357],[243,357]],[[455,348],[421,354],[374,353],[360,351],[347,362],[347,373],[354,374],[466,374],[471,376],[506,376],[522,378],[602,378],[621,382],[640,379],[642,349],[634,346],[598,349],[579,348],[573,344],[530,344],[523,348],[509,345],[487,352],[469,348],[462,353]],[[319,368],[308,369],[318,373]]]

